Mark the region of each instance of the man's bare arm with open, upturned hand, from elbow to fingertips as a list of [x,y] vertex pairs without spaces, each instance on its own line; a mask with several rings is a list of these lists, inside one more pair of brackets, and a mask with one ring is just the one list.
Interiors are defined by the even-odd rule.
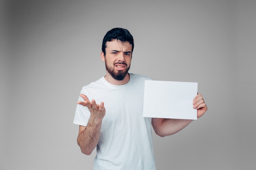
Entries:
[[77,143],[82,153],[90,155],[99,142],[102,119],[105,116],[106,110],[103,102],[98,105],[95,100],[90,102],[87,96],[83,94],[80,96],[84,99],[84,102],[80,101],[77,103],[87,107],[91,115],[87,126],[79,126]]

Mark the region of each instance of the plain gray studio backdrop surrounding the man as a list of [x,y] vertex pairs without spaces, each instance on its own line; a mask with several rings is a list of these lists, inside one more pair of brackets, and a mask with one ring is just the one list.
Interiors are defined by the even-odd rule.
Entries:
[[256,168],[255,0],[0,1],[0,169],[91,170],[76,144],[81,87],[105,75],[101,42],[135,39],[130,73],[198,82],[209,110],[154,135],[158,170]]

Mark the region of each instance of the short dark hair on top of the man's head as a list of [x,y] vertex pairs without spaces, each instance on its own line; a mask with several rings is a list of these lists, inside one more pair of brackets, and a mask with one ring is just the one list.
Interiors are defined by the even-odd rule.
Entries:
[[122,42],[128,41],[130,44],[132,44],[132,51],[133,51],[134,42],[133,42],[133,37],[130,34],[130,32],[127,29],[114,28],[114,29],[111,29],[110,31],[108,31],[103,38],[101,49],[102,49],[104,55],[106,55],[106,43],[108,41],[112,41],[115,39],[120,40]]

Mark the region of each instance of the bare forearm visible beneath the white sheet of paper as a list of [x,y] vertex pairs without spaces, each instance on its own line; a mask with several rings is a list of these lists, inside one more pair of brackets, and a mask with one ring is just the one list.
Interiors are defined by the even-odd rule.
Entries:
[[152,118],[152,125],[155,133],[160,137],[173,135],[187,125],[189,125],[193,120],[189,119],[160,119]]

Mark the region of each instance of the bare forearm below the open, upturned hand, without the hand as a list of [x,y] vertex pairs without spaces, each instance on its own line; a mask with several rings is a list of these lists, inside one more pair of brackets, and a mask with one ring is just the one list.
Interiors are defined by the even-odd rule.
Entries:
[[90,155],[97,146],[101,131],[101,121],[89,120],[86,128],[79,133],[77,143],[81,148],[81,152],[85,155]]

